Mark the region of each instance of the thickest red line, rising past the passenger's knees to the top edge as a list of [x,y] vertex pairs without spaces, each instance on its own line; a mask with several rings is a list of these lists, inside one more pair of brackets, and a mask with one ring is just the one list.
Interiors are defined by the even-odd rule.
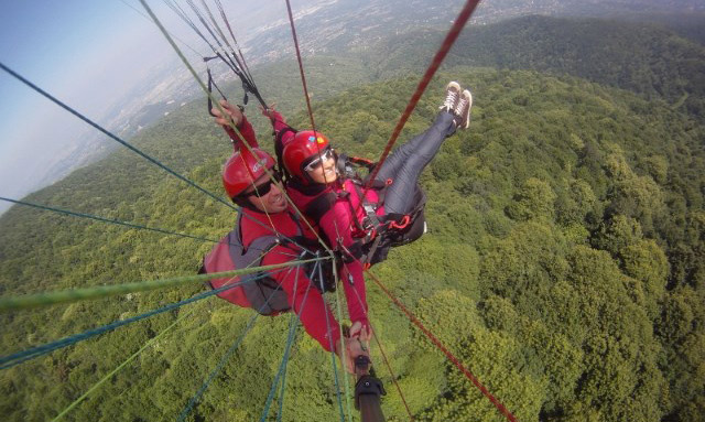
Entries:
[[[401,130],[404,128],[404,125],[406,125],[406,120],[409,120],[409,117],[413,112],[414,108],[416,108],[416,104],[421,99],[421,96],[423,95],[424,90],[426,90],[426,87],[431,83],[433,75],[436,73],[436,71],[441,66],[441,63],[447,55],[448,51],[451,50],[455,41],[457,40],[458,35],[460,34],[460,31],[463,31],[463,28],[465,26],[467,21],[473,15],[473,12],[475,11],[475,8],[479,2],[480,0],[467,0],[465,3],[465,7],[463,7],[463,10],[458,14],[458,17],[455,19],[455,22],[453,23],[451,31],[448,31],[448,34],[445,36],[445,40],[443,40],[443,44],[441,44],[441,48],[438,48],[438,51],[436,52],[436,55],[433,57],[433,61],[431,62],[431,65],[426,69],[426,73],[423,75],[423,78],[421,78],[421,82],[416,87],[416,91],[409,100],[409,104],[406,105],[406,109],[404,110],[401,118],[399,119],[399,122],[397,122],[397,127],[394,128],[394,131],[392,132],[392,136],[389,139],[387,147],[384,148],[384,152],[382,152],[382,155],[378,161],[378,165],[375,166],[375,170],[372,171],[372,174],[369,177],[367,186],[365,186],[366,190],[369,190],[370,186],[372,185],[372,182],[375,181],[375,177],[377,177],[377,173],[381,169],[382,163],[384,162],[384,160],[387,160],[387,155],[389,155],[389,153],[391,152],[392,147],[394,145],[394,142],[397,142],[397,138],[399,138]],[[286,3],[289,3],[289,0],[286,0]]]

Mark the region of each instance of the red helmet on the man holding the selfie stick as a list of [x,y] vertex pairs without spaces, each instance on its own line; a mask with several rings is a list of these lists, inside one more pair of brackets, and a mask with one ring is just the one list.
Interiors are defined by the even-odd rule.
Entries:
[[253,156],[248,150],[238,151],[225,163],[223,169],[223,185],[228,196],[235,197],[245,192],[262,174],[264,169],[274,167],[274,159],[267,152],[253,148],[257,155]]

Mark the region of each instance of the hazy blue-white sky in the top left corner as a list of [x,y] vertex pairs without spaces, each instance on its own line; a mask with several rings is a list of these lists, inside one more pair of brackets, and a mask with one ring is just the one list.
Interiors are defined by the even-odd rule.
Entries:
[[[174,56],[156,26],[126,3],[141,8],[135,0],[6,1],[0,62],[100,122],[150,68]],[[88,130],[0,71],[0,196],[26,194]]]

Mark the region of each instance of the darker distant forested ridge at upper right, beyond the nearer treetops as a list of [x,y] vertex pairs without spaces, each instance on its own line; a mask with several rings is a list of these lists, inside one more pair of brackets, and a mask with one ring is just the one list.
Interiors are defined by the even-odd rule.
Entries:
[[[372,54],[379,59],[370,67],[381,77],[421,72],[443,35],[422,30],[390,39]],[[705,116],[705,47],[655,24],[519,18],[465,31],[447,63],[577,76]]]

